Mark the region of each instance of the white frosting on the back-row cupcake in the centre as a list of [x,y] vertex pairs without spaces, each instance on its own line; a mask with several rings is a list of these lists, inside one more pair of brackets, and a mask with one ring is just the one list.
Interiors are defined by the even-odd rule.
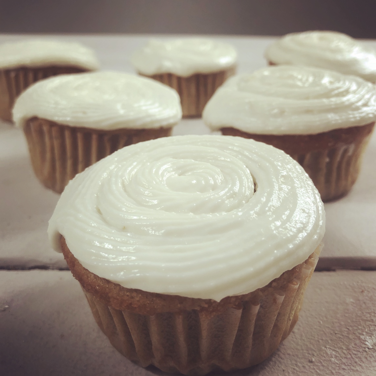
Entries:
[[235,65],[237,52],[230,44],[211,39],[151,39],[133,53],[131,62],[144,75],[174,73],[187,77],[212,73]]

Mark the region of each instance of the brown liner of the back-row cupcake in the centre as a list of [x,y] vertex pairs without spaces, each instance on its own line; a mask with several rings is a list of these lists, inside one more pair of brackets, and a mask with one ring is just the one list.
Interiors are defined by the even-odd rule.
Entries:
[[214,94],[227,78],[235,74],[235,67],[220,72],[181,77],[172,73],[146,76],[175,89],[180,96],[183,117],[199,117]]

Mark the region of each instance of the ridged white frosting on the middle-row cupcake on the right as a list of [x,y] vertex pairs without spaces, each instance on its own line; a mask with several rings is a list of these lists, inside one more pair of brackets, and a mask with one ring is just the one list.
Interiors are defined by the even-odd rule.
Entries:
[[202,116],[212,130],[316,134],[375,121],[376,87],[334,71],[271,66],[227,80]]

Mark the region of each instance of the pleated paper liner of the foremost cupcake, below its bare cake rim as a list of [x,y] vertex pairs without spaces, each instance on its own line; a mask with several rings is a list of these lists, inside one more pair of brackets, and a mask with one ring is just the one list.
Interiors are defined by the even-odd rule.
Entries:
[[290,334],[321,248],[283,284],[276,282],[285,273],[262,293],[242,295],[244,300],[236,307],[218,312],[193,309],[143,315],[108,306],[82,288],[111,344],[142,367],[154,365],[186,375],[232,371],[262,362]]

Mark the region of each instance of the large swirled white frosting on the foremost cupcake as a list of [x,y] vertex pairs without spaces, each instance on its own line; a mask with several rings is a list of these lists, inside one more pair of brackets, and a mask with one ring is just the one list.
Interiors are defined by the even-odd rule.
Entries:
[[324,234],[311,179],[231,136],[140,142],[78,174],[49,222],[89,271],[124,287],[221,300],[302,263]]

